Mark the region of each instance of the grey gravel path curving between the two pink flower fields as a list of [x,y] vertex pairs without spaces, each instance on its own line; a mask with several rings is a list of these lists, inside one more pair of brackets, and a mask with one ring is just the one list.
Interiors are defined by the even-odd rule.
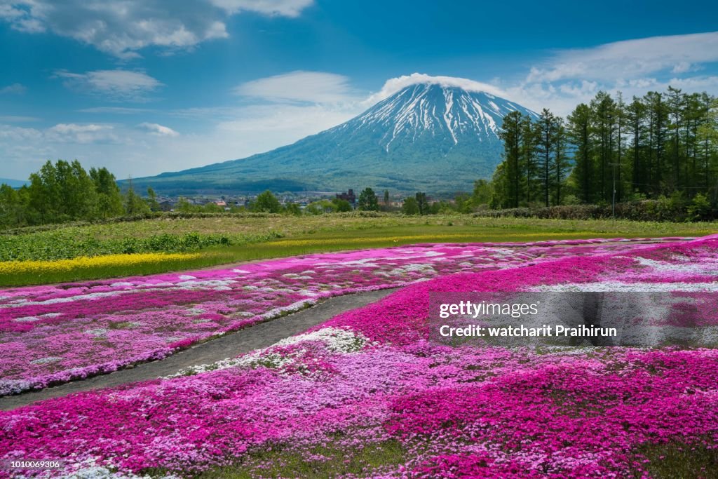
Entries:
[[114,373],[94,376],[82,381],[73,381],[40,391],[2,397],[0,398],[0,409],[7,411],[32,404],[35,401],[65,396],[80,391],[120,386],[121,384],[169,376],[188,366],[213,363],[251,350],[266,348],[279,340],[304,332],[309,327],[325,322],[342,312],[376,302],[394,291],[396,291],[396,288],[333,297],[307,310],[295,312],[276,320],[262,322],[206,343],[194,345],[161,361],[143,363],[131,369],[122,369]]

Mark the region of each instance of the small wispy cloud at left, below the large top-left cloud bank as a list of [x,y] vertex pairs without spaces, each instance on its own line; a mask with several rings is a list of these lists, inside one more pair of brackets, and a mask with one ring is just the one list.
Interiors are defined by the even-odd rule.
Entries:
[[159,80],[146,73],[132,70],[95,70],[85,73],[57,70],[54,76],[62,78],[67,88],[123,101],[144,101],[147,94],[162,86]]

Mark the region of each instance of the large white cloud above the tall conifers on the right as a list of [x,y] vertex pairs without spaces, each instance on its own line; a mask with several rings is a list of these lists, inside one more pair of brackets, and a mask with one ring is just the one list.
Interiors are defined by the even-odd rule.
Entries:
[[718,62],[718,32],[648,37],[552,52],[523,81],[505,90],[513,101],[567,115],[599,90],[630,101],[668,85],[686,93],[718,93],[718,77],[696,75]]

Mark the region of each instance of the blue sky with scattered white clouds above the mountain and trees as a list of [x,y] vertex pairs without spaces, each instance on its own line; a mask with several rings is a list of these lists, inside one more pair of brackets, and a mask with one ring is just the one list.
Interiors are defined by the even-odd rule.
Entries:
[[264,152],[403,85],[565,115],[597,90],[718,94],[718,6],[663,1],[0,0],[0,177],[154,175]]

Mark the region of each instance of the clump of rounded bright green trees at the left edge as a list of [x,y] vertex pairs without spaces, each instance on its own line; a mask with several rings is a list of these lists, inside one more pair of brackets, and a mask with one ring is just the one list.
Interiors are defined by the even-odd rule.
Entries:
[[142,215],[157,205],[154,192],[147,194],[144,200],[131,187],[122,194],[107,168],[87,172],[77,160],[48,161],[30,175],[29,185],[0,185],[0,227]]

